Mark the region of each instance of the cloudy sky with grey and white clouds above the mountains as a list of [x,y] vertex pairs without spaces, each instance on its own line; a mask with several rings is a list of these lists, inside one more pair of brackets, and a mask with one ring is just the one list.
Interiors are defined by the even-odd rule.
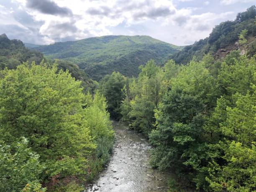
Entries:
[[0,33],[33,44],[148,35],[188,45],[256,0],[0,0]]

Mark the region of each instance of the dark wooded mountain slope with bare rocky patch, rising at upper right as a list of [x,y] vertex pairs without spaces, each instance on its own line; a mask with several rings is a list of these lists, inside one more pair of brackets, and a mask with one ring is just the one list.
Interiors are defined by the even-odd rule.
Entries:
[[256,6],[253,5],[243,13],[238,13],[233,21],[220,23],[213,28],[210,36],[196,41],[193,45],[185,46],[182,51],[173,54],[178,64],[187,64],[193,58],[197,61],[205,54],[210,53],[215,59],[223,58],[230,51],[240,49],[238,36],[242,30],[248,30],[246,49],[250,56],[256,54]]

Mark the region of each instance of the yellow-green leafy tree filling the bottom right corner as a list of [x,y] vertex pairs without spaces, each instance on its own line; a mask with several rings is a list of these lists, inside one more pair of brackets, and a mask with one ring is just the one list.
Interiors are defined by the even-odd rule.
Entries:
[[210,162],[209,176],[206,177],[214,191],[250,192],[256,183],[256,135],[255,133],[255,93],[235,94],[236,104],[226,108],[226,119],[220,125],[225,140],[215,147],[222,151],[219,158]]

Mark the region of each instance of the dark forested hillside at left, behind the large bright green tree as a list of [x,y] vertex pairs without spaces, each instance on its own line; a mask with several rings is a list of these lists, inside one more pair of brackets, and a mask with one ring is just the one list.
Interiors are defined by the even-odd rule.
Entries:
[[92,92],[96,89],[97,82],[93,81],[83,70],[79,69],[79,67],[71,61],[46,59],[39,51],[26,48],[22,41],[17,39],[10,40],[5,34],[0,35],[0,70],[3,70],[5,67],[8,69],[16,69],[18,65],[26,61],[28,61],[29,64],[31,64],[32,61],[35,61],[36,64],[40,64],[43,59],[47,65],[53,65],[55,63],[57,64],[58,71],[60,69],[63,71],[68,70],[72,77],[82,81],[84,92]]

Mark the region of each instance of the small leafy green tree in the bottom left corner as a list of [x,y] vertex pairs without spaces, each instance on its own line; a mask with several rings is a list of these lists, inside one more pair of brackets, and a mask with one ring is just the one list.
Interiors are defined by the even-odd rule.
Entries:
[[5,143],[0,145],[0,191],[21,191],[27,188],[28,192],[43,192],[45,189],[40,184],[43,170],[39,155],[28,148],[26,138],[12,143],[12,146]]

